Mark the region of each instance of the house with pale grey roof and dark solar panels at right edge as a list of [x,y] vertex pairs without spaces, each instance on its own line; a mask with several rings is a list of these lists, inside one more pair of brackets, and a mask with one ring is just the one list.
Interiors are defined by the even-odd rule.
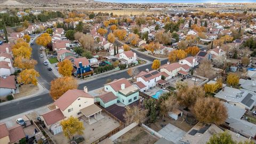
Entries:
[[223,87],[214,97],[220,98],[231,105],[241,107],[243,109],[252,109],[256,102],[254,92],[245,89],[234,89],[228,86]]

